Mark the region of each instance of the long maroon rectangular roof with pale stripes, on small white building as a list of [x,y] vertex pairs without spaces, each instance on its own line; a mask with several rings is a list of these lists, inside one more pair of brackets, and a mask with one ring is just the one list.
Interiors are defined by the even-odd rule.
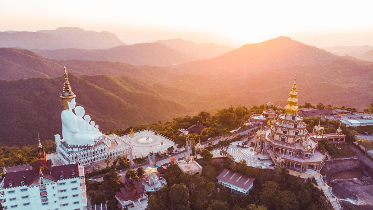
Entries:
[[247,177],[237,172],[232,172],[228,169],[224,169],[216,179],[242,189],[248,189],[255,180],[254,178]]

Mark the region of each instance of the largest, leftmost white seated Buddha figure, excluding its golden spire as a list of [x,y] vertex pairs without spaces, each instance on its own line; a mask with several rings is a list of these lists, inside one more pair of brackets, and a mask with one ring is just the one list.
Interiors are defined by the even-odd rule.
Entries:
[[73,98],[68,102],[68,109],[61,112],[63,139],[68,145],[90,145],[94,138],[79,129],[78,117],[72,112],[75,105],[75,98]]

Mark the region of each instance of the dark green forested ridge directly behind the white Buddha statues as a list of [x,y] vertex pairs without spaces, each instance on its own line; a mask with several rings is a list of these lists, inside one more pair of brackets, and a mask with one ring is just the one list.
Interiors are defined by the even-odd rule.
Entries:
[[[69,74],[69,81],[77,105],[85,108],[102,131],[171,120],[192,110],[163,95],[172,88],[133,78]],[[37,140],[37,130],[42,139],[61,134],[62,87],[62,77],[0,80],[0,144],[27,145]]]

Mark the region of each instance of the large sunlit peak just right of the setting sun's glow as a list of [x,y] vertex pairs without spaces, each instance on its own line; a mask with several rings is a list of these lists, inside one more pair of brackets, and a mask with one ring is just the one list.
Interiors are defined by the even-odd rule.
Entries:
[[242,74],[266,68],[331,62],[339,56],[289,37],[245,44],[217,58],[181,64],[176,72],[199,74]]

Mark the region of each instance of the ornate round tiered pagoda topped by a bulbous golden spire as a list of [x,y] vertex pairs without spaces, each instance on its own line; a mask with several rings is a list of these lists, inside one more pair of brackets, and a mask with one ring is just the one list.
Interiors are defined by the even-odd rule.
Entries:
[[[314,127],[313,133],[308,133],[303,118],[298,115],[296,78],[297,76],[284,109],[285,113],[276,114],[270,126],[258,130],[255,150],[258,154],[269,154],[276,165],[300,172],[308,169],[319,171],[325,164],[326,154],[317,149],[318,141],[330,139],[329,143],[342,144],[345,135],[342,134],[341,127],[337,129],[337,133],[324,134],[324,128],[320,127],[320,124]],[[267,104],[264,112],[273,114],[272,106]]]

